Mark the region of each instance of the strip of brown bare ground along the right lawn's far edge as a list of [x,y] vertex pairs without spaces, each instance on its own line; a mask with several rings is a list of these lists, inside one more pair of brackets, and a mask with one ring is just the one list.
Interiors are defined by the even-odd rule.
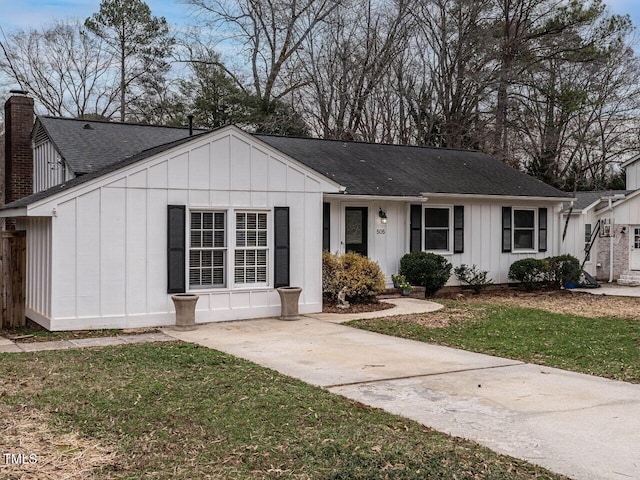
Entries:
[[[589,318],[623,318],[640,320],[640,298],[592,295],[567,290],[523,292],[510,289],[500,291],[447,294],[441,298],[465,302],[490,302],[510,306],[540,308],[554,313],[580,315]],[[437,301],[437,298],[436,298]],[[449,311],[449,310],[448,310]]]

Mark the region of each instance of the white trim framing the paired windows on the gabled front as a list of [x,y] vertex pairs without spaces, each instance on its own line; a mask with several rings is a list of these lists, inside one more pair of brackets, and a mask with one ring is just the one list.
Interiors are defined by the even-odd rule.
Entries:
[[[191,287],[189,284],[189,261],[191,255],[191,212],[224,212],[226,220],[226,256],[225,256],[225,286],[221,287]],[[235,268],[235,251],[236,251],[236,212],[256,212],[267,214],[267,281],[266,283],[236,283]],[[215,206],[188,206],[187,219],[185,221],[185,239],[186,245],[186,265],[185,265],[185,285],[187,292],[192,293],[224,293],[224,292],[241,292],[241,291],[268,291],[273,289],[273,208],[269,207],[215,207]]]

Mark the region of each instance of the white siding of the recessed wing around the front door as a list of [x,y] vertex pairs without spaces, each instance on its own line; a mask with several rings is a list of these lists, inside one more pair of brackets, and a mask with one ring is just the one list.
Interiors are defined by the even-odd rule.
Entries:
[[[368,253],[369,258],[378,262],[391,283],[391,275],[398,273],[400,258],[409,251],[409,205],[419,201],[377,201],[350,200],[348,198],[328,200],[331,204],[331,251],[344,252],[344,212],[347,206],[369,207]],[[531,200],[472,200],[458,198],[433,198],[422,202],[423,206],[464,206],[464,252],[444,254],[453,268],[462,264],[477,265],[487,270],[494,283],[508,283],[509,267],[522,258],[545,258],[559,255],[559,244],[555,240],[560,235],[560,204],[550,201]],[[502,252],[502,207],[548,208],[546,252],[503,253]],[[382,226],[378,211],[387,213],[387,224]],[[376,233],[384,228],[385,233]],[[537,241],[537,240],[536,240]],[[438,253],[438,252],[436,252]],[[455,275],[449,285],[458,285]]]

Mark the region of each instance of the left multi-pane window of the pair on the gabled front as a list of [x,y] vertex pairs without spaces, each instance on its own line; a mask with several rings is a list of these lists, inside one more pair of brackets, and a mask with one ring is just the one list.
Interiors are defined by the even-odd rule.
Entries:
[[189,286],[224,287],[226,245],[225,212],[191,212]]

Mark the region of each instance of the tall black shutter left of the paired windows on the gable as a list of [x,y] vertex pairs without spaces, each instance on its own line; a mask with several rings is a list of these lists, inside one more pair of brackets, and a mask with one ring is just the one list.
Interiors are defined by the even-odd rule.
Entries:
[[167,293],[186,291],[185,215],[184,205],[167,206]]

